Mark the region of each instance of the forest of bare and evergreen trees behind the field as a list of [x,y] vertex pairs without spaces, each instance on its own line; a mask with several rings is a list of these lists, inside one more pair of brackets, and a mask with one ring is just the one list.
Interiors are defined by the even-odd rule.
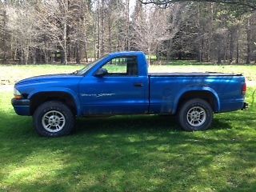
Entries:
[[119,50],[158,60],[256,63],[253,0],[3,0],[0,62],[90,62]]

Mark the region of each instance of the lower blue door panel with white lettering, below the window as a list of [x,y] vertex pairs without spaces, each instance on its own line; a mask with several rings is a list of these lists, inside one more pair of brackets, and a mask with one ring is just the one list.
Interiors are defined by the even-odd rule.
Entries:
[[[135,87],[142,82],[143,87]],[[149,88],[145,77],[84,78],[79,85],[82,114],[146,114]]]

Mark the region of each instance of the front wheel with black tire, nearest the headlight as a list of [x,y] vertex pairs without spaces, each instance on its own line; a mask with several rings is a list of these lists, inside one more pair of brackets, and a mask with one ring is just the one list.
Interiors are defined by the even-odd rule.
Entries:
[[[58,118],[56,122],[55,118]],[[42,119],[44,119],[44,121]],[[74,129],[74,114],[70,108],[62,102],[44,102],[35,110],[33,122],[34,129],[39,135],[49,138],[61,137],[70,134]],[[57,124],[59,124],[59,129],[56,126]]]

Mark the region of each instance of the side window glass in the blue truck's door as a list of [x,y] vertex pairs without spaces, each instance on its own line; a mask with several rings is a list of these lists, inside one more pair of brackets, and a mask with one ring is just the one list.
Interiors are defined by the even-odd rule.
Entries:
[[113,58],[102,66],[107,70],[106,76],[136,76],[138,75],[137,57],[126,56]]

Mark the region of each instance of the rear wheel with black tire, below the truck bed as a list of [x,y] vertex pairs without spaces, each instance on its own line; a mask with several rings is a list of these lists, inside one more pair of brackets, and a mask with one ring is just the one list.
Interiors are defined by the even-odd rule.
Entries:
[[207,130],[213,118],[212,107],[208,102],[200,98],[194,98],[183,103],[178,110],[178,122],[183,130]]

